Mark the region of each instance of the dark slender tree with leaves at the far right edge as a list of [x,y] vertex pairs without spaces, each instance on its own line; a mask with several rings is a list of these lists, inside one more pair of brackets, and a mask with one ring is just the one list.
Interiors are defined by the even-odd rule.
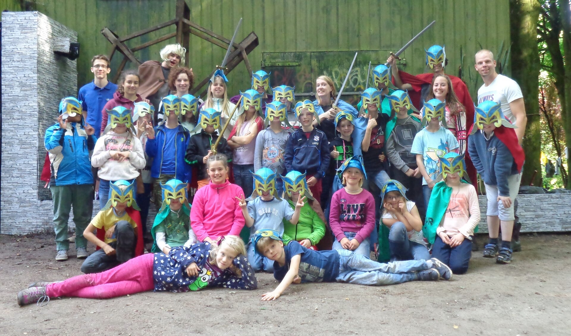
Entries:
[[[541,68],[554,79],[565,145],[571,147],[571,0],[541,0],[537,25]],[[565,181],[569,188],[569,179]]]

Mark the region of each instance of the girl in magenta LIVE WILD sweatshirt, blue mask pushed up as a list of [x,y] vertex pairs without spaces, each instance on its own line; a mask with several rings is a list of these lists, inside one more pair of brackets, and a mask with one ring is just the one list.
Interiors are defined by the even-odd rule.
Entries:
[[375,228],[375,200],[362,188],[366,176],[360,156],[349,157],[337,170],[343,172],[344,187],[331,197],[329,226],[335,236],[332,249],[352,250],[369,257],[369,236]]

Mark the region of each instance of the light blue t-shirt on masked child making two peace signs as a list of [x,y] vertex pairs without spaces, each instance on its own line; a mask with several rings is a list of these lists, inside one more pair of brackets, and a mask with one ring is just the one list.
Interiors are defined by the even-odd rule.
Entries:
[[293,209],[284,199],[278,200],[274,197],[271,201],[264,201],[262,197],[256,197],[248,202],[248,214],[254,218],[254,225],[250,228],[251,241],[254,233],[261,229],[276,230],[283,236],[283,220],[291,220]]

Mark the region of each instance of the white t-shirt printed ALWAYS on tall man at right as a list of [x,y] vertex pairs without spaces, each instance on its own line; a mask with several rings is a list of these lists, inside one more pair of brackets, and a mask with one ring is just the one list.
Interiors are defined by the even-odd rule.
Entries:
[[513,116],[509,103],[523,97],[521,88],[516,81],[504,75],[497,75],[496,79],[488,86],[483,84],[478,89],[478,105],[488,100],[500,103],[501,111],[512,124],[516,123],[516,117]]

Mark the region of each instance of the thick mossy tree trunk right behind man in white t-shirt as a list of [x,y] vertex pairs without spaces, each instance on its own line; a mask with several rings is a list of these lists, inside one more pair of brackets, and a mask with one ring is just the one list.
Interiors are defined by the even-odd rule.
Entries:
[[[537,47],[537,19],[541,4],[538,0],[510,0],[510,37],[512,44],[512,76],[524,95],[528,123],[525,128],[524,175],[521,184],[541,183],[541,126],[538,107],[540,59]],[[538,172],[537,174],[534,172]]]

